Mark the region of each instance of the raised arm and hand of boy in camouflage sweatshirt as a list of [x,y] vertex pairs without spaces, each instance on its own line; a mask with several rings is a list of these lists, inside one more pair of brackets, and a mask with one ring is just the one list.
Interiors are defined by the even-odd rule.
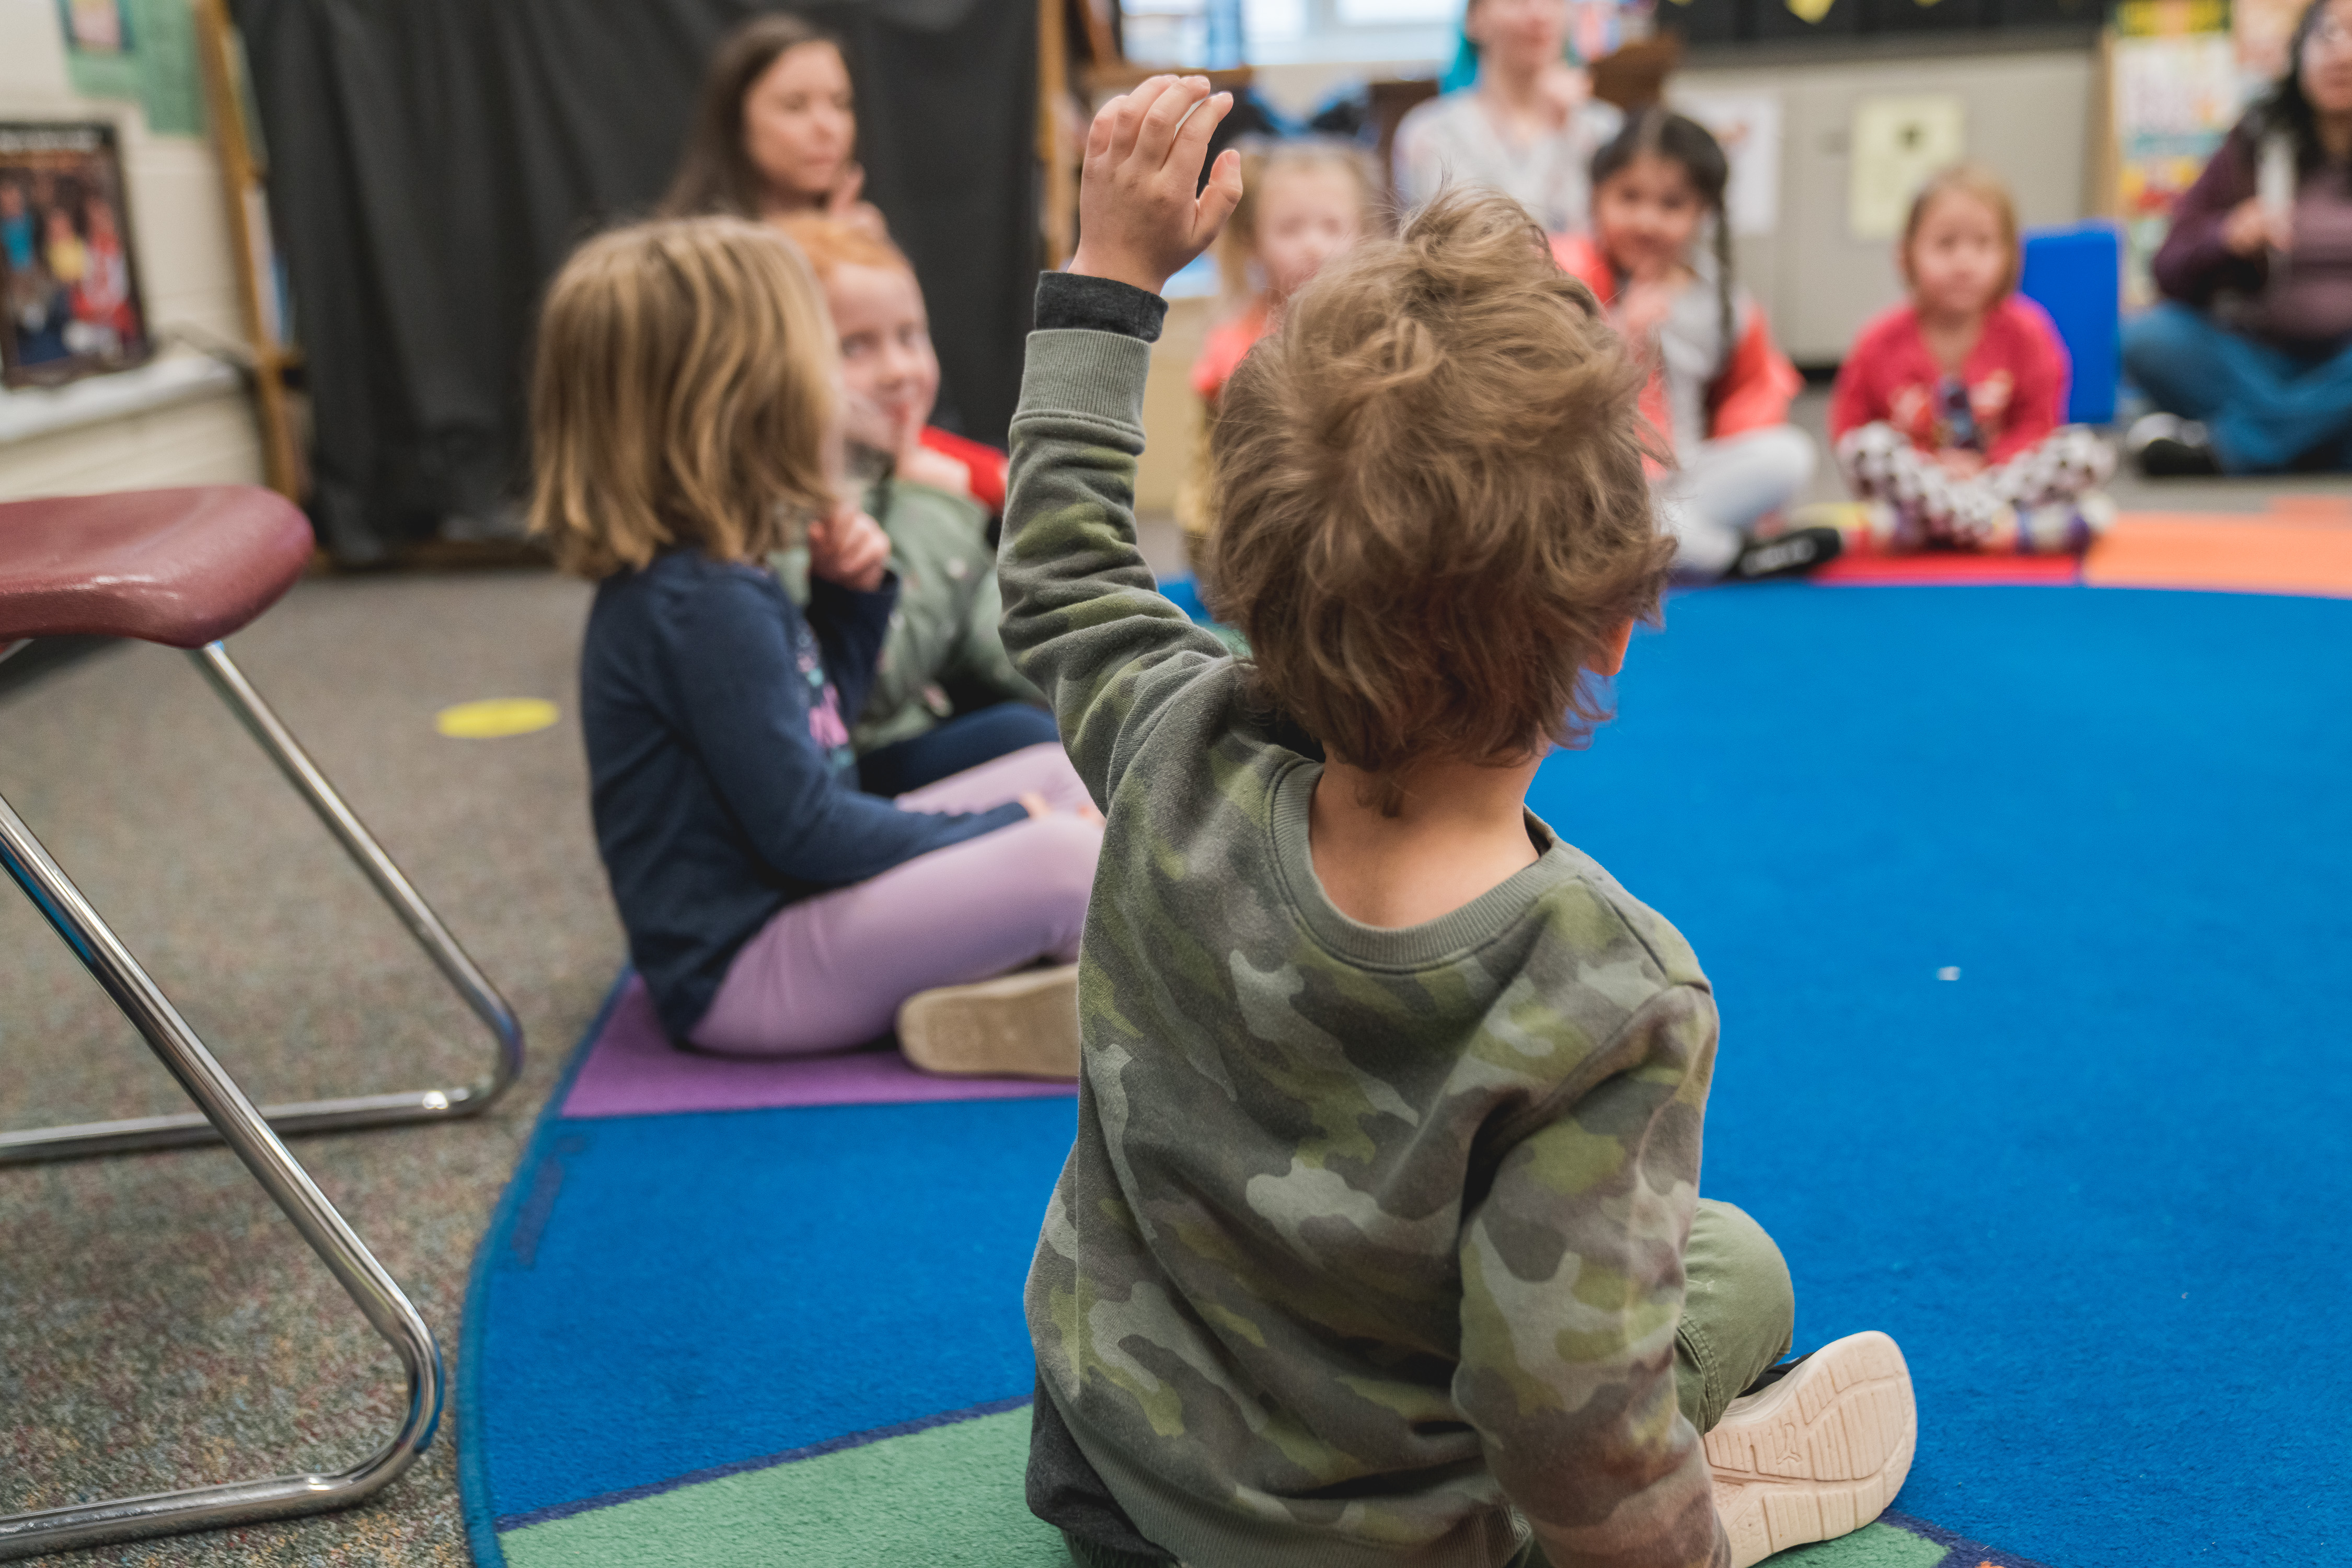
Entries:
[[1105,103],[1087,134],[1077,259],[1037,287],[997,564],[1004,646],[1044,691],[1101,806],[1131,755],[1122,738],[1131,743],[1192,670],[1228,656],[1155,592],[1134,491],[1160,289],[1242,195],[1230,150],[1197,188],[1209,132],[1230,106],[1207,78],[1152,78]]

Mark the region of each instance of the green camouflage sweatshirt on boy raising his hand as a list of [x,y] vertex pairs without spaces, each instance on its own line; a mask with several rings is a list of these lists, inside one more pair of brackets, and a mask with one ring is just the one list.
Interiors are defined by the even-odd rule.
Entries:
[[1077,322],[1138,299],[1040,287],[1000,557],[1105,816],[1040,1392],[1192,1568],[1494,1568],[1517,1514],[1557,1568],[1729,1561],[1672,1378],[1708,980],[1534,816],[1536,865],[1454,914],[1331,905],[1319,750],[1136,552],[1150,350]]

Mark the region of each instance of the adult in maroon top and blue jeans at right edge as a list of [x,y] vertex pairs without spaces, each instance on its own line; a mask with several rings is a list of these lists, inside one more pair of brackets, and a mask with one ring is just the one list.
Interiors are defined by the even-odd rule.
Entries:
[[2164,475],[2352,468],[2352,0],[2314,0],[2286,75],[2173,209],[2124,364]]

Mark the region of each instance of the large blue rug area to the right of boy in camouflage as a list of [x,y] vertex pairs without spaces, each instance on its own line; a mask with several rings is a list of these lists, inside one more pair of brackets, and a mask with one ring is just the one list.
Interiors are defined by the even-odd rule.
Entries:
[[2352,604],[1689,595],[1618,701],[1534,804],[1708,966],[1705,1190],[1903,1345],[1898,1507],[2352,1552]]

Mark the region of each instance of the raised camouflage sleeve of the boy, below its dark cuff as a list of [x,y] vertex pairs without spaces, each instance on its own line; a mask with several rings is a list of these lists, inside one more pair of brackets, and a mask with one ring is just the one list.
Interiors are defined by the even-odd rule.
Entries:
[[1004,649],[1054,708],[1070,762],[1105,809],[1160,708],[1230,658],[1160,597],[1136,550],[1148,371],[1141,339],[1030,334],[997,555]]

